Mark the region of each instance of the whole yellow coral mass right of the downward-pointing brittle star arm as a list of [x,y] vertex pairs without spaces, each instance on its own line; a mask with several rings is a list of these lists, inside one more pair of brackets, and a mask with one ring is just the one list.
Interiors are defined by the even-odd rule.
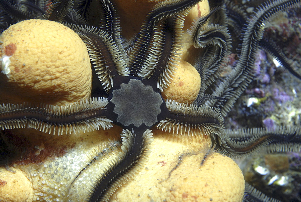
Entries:
[[[242,201],[244,176],[231,158],[213,153],[201,165],[204,148],[211,148],[208,135],[153,133],[144,169],[121,186],[112,201]],[[188,155],[176,166],[181,154]]]

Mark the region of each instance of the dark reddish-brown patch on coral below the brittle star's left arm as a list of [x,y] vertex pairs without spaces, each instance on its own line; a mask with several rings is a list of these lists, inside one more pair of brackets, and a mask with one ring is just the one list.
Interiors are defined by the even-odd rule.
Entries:
[[27,165],[43,163],[48,158],[64,156],[69,149],[75,147],[75,142],[68,141],[69,136],[47,137],[46,135],[15,135],[12,130],[0,132],[0,165],[16,163]]

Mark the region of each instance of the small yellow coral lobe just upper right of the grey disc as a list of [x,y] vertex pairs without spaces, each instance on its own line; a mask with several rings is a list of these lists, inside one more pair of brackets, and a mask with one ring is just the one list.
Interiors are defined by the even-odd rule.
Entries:
[[200,91],[200,74],[191,64],[183,60],[180,61],[175,71],[171,83],[162,92],[162,97],[191,104]]

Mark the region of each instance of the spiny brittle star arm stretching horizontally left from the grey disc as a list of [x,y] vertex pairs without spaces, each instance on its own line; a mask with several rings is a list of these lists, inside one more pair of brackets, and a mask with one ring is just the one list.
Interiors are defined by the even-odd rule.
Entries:
[[106,117],[107,104],[107,98],[90,98],[65,106],[3,104],[0,106],[0,129],[27,127],[54,135],[108,129],[113,121]]

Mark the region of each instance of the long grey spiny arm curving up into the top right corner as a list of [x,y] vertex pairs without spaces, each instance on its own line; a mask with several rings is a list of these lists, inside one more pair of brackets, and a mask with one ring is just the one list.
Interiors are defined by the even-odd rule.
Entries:
[[233,106],[234,102],[247,88],[253,78],[252,68],[256,53],[260,48],[259,42],[263,37],[265,21],[280,11],[285,11],[300,5],[299,0],[278,0],[259,7],[252,19],[247,21],[244,28],[244,38],[241,47],[241,54],[235,70],[226,79],[223,85],[218,86],[213,92],[215,95],[225,98],[226,101],[213,101],[211,106],[219,107],[225,116]]

